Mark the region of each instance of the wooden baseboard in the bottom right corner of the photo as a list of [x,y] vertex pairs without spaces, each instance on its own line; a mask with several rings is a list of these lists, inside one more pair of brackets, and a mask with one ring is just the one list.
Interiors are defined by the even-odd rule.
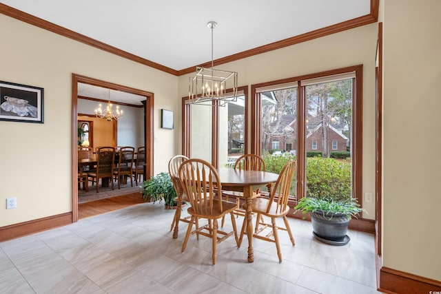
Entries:
[[382,266],[378,291],[384,293],[441,293],[441,282]]

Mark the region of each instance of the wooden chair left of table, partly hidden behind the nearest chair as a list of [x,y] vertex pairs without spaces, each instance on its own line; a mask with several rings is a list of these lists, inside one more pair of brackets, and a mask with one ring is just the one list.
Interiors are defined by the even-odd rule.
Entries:
[[[181,166],[182,162],[188,159],[189,158],[187,156],[176,155],[170,158],[168,162],[168,173],[170,174],[170,178],[172,178],[174,191],[176,191],[177,197],[175,200],[178,203],[178,206],[179,203],[183,201],[189,202],[187,196],[185,195],[185,193],[183,193],[183,189],[181,188],[181,183],[179,182],[179,174],[178,174],[179,167]],[[172,226],[170,227],[170,231],[172,231],[175,227],[178,227],[179,221],[188,223],[190,221],[190,218],[191,216],[181,218],[181,209],[177,208],[174,213],[174,218],[172,221]],[[173,235],[173,238],[178,238],[177,230],[176,230],[176,234]]]

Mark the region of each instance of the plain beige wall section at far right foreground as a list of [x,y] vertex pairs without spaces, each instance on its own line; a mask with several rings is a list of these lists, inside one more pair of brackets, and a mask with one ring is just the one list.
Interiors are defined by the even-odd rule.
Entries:
[[440,11],[439,0],[384,1],[383,264],[435,280],[441,280]]

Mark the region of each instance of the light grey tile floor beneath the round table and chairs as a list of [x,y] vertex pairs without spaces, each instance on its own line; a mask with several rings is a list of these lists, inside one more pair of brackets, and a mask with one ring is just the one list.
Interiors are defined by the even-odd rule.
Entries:
[[289,218],[296,245],[280,231],[282,263],[274,244],[257,239],[248,263],[246,238],[240,249],[229,238],[213,266],[209,238],[192,235],[181,253],[187,224],[173,239],[173,216],[143,203],[1,242],[0,292],[379,293],[371,234],[349,231],[349,244],[331,246],[314,239],[310,222]]

